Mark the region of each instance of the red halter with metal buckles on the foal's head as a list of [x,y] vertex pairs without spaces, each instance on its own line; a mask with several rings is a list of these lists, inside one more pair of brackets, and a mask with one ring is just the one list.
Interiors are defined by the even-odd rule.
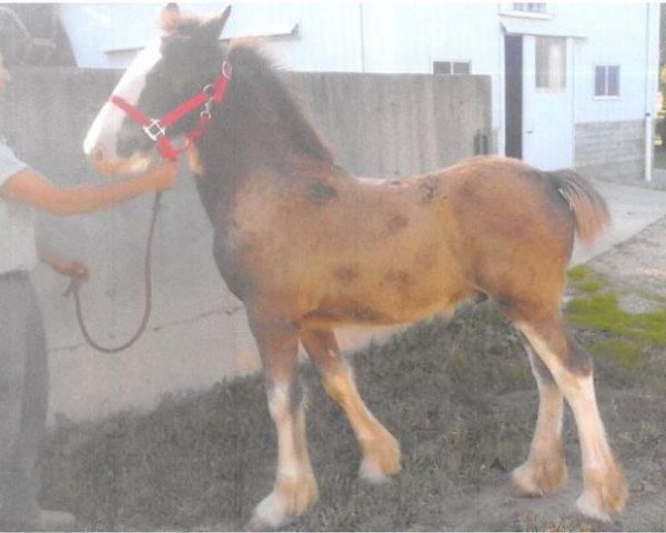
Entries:
[[[151,119],[145,113],[117,94],[111,94],[111,97],[109,97],[109,101],[122,109],[128,117],[143,125],[143,131],[148,137],[151,138],[151,140],[157,142],[158,150],[164,159],[174,160],[188,148],[190,148],[195,140],[203,135],[205,127],[211,120],[211,107],[213,103],[220,103],[222,100],[224,100],[224,92],[226,91],[226,86],[229,84],[230,79],[231,64],[224,61],[222,63],[222,72],[213,83],[205,86],[201,92],[198,92],[192,98],[182,102],[180,105],[176,105],[161,119]],[[199,113],[199,122],[196,123],[196,127],[185,133],[185,142],[182,147],[174,147],[171,143],[171,140],[167,137],[167,129],[174,122],[178,122],[184,115],[200,108],[203,109]]]

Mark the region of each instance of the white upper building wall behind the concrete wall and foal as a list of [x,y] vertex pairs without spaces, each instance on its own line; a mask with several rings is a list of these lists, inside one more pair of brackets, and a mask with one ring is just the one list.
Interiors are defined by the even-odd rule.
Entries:
[[[501,153],[505,32],[574,41],[574,124],[630,122],[654,113],[658,4],[549,2],[545,18],[516,17],[507,12],[511,2],[243,2],[234,6],[223,37],[269,36],[276,60],[295,71],[431,73],[435,60],[471,61],[473,73],[492,79],[491,135]],[[220,7],[190,9],[209,14]],[[155,4],[61,6],[80,64],[94,67],[125,66],[133,52],[123,46],[142,47],[148,37],[155,37],[157,24],[147,21],[157,19],[158,11]],[[296,26],[293,34],[284,33]],[[100,47],[108,53],[100,53]],[[596,64],[620,64],[619,98],[594,97]],[[571,152],[571,147],[552,149]],[[589,148],[574,151],[589,153]]]

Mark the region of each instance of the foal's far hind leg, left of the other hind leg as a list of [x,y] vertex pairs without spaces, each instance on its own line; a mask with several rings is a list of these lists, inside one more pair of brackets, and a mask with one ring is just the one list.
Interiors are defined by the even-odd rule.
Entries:
[[564,399],[551,371],[526,340],[524,345],[538,388],[538,415],[529,457],[513,471],[513,480],[519,494],[541,496],[559,489],[567,477],[562,445]]

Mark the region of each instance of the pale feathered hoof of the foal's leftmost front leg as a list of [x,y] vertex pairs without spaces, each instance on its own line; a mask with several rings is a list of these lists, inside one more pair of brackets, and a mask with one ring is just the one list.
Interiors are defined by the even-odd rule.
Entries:
[[271,494],[254,509],[245,525],[249,531],[276,530],[303,514],[317,499],[314,479],[300,482],[278,482]]

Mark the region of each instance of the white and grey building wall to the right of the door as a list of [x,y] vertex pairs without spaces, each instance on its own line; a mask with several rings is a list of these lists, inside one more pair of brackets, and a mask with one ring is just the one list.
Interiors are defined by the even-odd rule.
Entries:
[[[579,8],[586,28],[575,43],[575,165],[586,175],[639,183],[652,171],[645,121],[652,124],[657,109],[659,4],[604,6],[603,24],[594,22],[598,4],[559,6],[571,17]],[[609,64],[620,66],[619,97],[597,98],[594,67]]]

